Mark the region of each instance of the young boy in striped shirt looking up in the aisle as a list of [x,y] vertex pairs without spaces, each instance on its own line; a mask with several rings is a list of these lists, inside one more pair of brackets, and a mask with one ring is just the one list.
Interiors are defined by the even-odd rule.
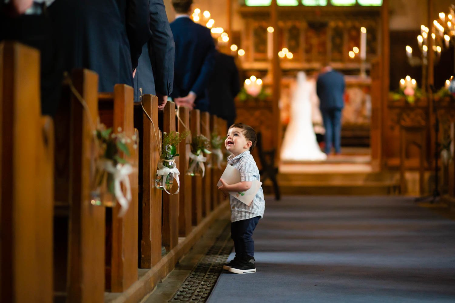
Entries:
[[[227,157],[227,164],[240,171],[241,182],[226,184],[221,179],[222,186],[218,189],[223,194],[229,192],[243,192],[248,190],[254,180],[259,180],[259,170],[253,156],[257,142],[254,129],[243,123],[233,124],[227,131],[224,141],[226,149],[232,153]],[[223,266],[232,273],[255,273],[253,231],[264,215],[265,200],[262,187],[253,199],[250,206],[230,196],[231,201],[231,238],[234,240],[235,258]]]

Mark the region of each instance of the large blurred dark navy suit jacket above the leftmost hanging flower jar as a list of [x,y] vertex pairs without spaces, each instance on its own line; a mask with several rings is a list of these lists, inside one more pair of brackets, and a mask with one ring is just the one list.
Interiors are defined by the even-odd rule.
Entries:
[[49,7],[64,69],[99,75],[99,91],[133,85],[132,72],[151,37],[148,0],[57,0]]

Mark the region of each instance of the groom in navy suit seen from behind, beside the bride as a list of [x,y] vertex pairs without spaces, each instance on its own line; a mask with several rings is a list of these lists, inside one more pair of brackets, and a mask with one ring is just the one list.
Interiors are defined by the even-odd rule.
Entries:
[[319,108],[325,127],[325,153],[330,154],[332,142],[335,153],[341,153],[341,110],[344,107],[344,75],[324,65],[316,82]]

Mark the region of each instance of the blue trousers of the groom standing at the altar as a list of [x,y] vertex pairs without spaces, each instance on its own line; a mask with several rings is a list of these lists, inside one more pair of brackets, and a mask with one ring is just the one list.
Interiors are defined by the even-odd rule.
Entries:
[[321,109],[325,128],[325,153],[332,151],[332,142],[335,152],[341,152],[341,109]]

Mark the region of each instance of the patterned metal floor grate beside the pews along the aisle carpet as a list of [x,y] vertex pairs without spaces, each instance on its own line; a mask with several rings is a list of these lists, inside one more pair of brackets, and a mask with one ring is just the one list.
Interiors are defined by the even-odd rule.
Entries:
[[227,224],[215,243],[199,260],[192,273],[169,302],[206,302],[217,282],[222,265],[226,263],[234,243],[231,240],[230,224]]

